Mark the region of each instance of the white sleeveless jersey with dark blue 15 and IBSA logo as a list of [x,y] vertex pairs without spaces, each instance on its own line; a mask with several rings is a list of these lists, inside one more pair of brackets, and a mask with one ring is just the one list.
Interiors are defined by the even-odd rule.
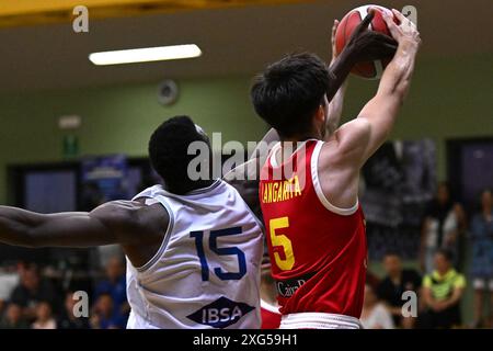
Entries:
[[260,328],[262,228],[237,190],[217,180],[186,195],[154,185],[139,197],[161,203],[170,225],[148,263],[127,259],[127,328]]

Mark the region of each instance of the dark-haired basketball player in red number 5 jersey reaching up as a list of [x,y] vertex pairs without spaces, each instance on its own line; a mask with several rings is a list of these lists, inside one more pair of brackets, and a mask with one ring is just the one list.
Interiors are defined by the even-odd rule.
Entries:
[[256,113],[282,139],[260,182],[280,328],[360,328],[367,247],[359,171],[392,129],[421,42],[415,25],[392,12],[399,25],[383,19],[397,53],[376,95],[334,134],[325,135],[326,91],[337,77],[316,56],[288,56],[252,87]]

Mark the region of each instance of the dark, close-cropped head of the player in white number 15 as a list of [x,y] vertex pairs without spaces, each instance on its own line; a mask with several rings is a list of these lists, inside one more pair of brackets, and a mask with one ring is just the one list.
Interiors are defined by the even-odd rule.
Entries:
[[204,180],[194,181],[187,174],[188,163],[197,157],[187,152],[193,141],[205,141],[210,152],[208,138],[197,131],[188,116],[175,116],[165,121],[150,137],[151,166],[172,193],[185,194],[204,186]]

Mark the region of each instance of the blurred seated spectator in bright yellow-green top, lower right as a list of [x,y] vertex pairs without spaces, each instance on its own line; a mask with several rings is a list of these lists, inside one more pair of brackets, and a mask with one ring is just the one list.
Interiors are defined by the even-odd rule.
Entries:
[[440,249],[435,253],[435,271],[423,279],[423,298],[426,310],[419,324],[424,329],[452,328],[461,325],[460,299],[466,279],[452,268],[452,254]]

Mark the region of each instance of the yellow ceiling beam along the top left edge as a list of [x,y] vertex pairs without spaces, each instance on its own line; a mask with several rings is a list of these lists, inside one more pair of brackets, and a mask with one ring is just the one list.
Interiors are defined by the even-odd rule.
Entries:
[[83,4],[90,19],[136,16],[183,10],[310,2],[307,0],[0,0],[0,27],[62,23]]

